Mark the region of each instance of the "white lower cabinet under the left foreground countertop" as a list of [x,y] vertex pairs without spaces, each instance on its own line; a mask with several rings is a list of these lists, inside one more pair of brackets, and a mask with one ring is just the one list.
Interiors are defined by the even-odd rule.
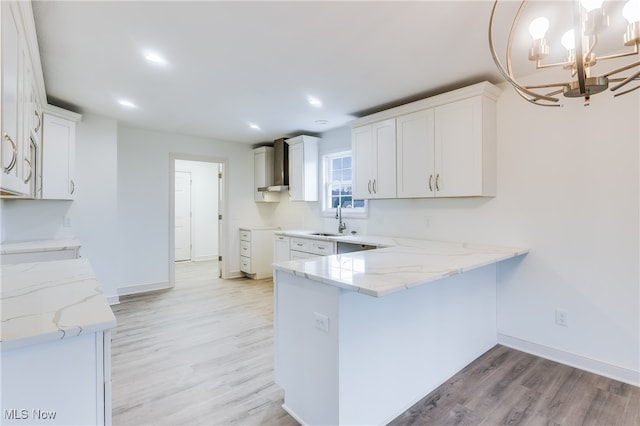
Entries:
[[2,350],[2,424],[111,424],[111,334]]

